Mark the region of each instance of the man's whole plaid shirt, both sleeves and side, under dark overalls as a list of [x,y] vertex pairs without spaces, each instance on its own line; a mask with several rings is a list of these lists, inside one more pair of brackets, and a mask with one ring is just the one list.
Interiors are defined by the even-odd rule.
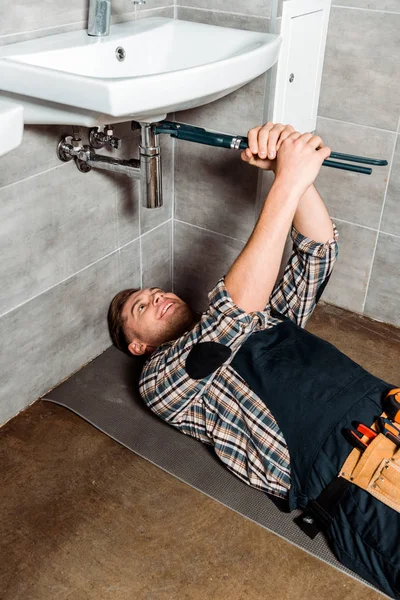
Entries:
[[[277,423],[260,398],[230,366],[255,331],[280,320],[271,307],[304,327],[321,284],[338,253],[338,232],[326,243],[291,229],[293,251],[282,279],[262,311],[246,313],[233,302],[221,278],[209,293],[209,308],[193,329],[159,346],[145,362],[139,389],[147,406],[182,433],[212,444],[221,461],[248,485],[285,498],[290,488],[289,453]],[[218,342],[230,358],[204,379],[191,379],[185,361],[198,342]]]

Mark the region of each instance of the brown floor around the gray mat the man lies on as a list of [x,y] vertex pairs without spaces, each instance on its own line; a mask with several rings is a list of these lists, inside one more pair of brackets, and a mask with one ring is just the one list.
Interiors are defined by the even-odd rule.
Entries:
[[[321,305],[308,329],[400,379],[400,330]],[[378,600],[380,594],[37,402],[0,430],[2,600]]]

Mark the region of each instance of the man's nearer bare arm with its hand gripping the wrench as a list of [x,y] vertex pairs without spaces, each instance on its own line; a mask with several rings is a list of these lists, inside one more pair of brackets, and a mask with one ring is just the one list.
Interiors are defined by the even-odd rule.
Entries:
[[[264,134],[264,128],[260,128],[260,156],[261,146],[265,144]],[[322,145],[321,138],[311,133],[301,135],[293,132],[280,145],[276,158],[276,178],[257,224],[225,276],[225,286],[231,298],[246,312],[261,311],[267,305],[300,199],[314,182],[322,162],[330,153],[330,148]],[[300,211],[298,220],[305,220],[309,204],[310,200],[306,197],[304,210]],[[324,221],[323,211],[319,220]],[[330,219],[329,223],[331,226]],[[327,230],[327,239],[331,234],[332,226],[330,231]]]

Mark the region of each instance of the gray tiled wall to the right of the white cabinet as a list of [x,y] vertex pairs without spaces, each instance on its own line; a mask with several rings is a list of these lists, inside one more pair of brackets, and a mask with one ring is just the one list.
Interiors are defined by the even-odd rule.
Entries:
[[397,326],[399,65],[398,0],[333,2],[316,131],[333,150],[386,158],[389,165],[374,167],[371,176],[321,170],[317,187],[341,234],[324,300]]

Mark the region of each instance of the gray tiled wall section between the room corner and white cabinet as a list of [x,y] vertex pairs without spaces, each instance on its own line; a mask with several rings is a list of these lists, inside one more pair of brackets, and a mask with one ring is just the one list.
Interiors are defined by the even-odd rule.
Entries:
[[[177,0],[177,17],[268,32],[271,5],[272,0]],[[226,98],[175,117],[247,134],[262,122],[265,89],[263,75]],[[175,153],[174,292],[204,310],[207,292],[226,273],[254,227],[258,172],[229,150],[180,141]]]

